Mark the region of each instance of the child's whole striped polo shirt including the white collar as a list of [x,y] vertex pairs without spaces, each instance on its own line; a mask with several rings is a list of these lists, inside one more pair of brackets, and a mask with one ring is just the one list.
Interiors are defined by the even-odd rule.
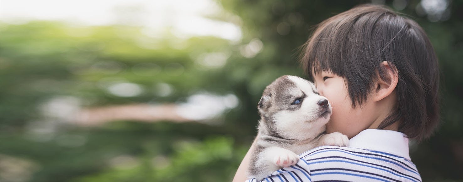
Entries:
[[366,129],[351,138],[348,147],[316,147],[299,157],[297,164],[277,170],[262,181],[421,182],[408,155],[408,138],[397,131]]

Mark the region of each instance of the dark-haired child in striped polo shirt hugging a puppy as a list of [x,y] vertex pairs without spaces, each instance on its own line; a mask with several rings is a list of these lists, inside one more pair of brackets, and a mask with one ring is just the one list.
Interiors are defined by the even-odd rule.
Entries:
[[[309,150],[263,181],[420,182],[408,139],[429,137],[439,121],[438,62],[423,29],[385,6],[357,6],[320,23],[300,61],[332,105],[326,132],[349,146]],[[245,180],[249,155],[233,181]]]

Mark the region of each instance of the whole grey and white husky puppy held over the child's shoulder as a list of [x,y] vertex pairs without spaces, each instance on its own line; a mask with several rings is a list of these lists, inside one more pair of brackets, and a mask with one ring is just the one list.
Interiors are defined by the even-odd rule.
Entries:
[[325,133],[332,108],[312,82],[298,76],[281,76],[267,86],[257,109],[261,119],[248,178],[260,181],[296,164],[300,153],[323,145],[345,147],[349,142],[339,132]]

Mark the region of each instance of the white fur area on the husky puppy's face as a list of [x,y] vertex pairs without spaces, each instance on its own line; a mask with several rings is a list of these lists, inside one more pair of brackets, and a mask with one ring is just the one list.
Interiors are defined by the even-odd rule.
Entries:
[[[325,124],[330,120],[331,106],[325,109],[318,105],[320,100],[326,99],[320,96],[314,88],[312,82],[309,82],[303,78],[297,76],[288,76],[291,82],[296,85],[294,88],[290,88],[289,94],[293,95],[294,98],[305,96],[301,98],[300,108],[294,111],[282,110],[275,113],[275,128],[277,132],[285,138],[306,140],[313,138],[319,133],[325,130]],[[292,103],[293,100],[288,100],[288,103]],[[275,104],[287,104],[287,103],[275,103]],[[328,111],[329,114],[320,116],[323,112]]]

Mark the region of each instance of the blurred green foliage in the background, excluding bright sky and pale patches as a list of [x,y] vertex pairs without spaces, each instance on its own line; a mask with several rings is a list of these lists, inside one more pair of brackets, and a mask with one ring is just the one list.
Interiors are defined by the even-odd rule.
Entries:
[[[364,1],[219,3],[241,18],[241,41],[184,40],[169,30],[155,38],[122,25],[1,23],[1,181],[231,181],[255,135],[263,88],[281,75],[303,76],[297,48],[311,27]],[[425,29],[438,54],[443,122],[431,139],[411,145],[411,157],[425,181],[462,180],[463,3],[453,1],[450,18],[440,22],[417,15],[418,3],[410,0],[400,12]],[[240,51],[252,40],[262,41],[263,49],[246,58]],[[204,53],[229,57],[225,65],[210,68],[197,60]],[[136,83],[144,92],[109,94],[105,85],[113,81]],[[159,94],[160,83],[173,92]],[[235,94],[239,105],[216,118],[221,124],[117,121],[90,128],[43,114],[44,103],[57,96],[95,107],[175,103],[201,91]]]

